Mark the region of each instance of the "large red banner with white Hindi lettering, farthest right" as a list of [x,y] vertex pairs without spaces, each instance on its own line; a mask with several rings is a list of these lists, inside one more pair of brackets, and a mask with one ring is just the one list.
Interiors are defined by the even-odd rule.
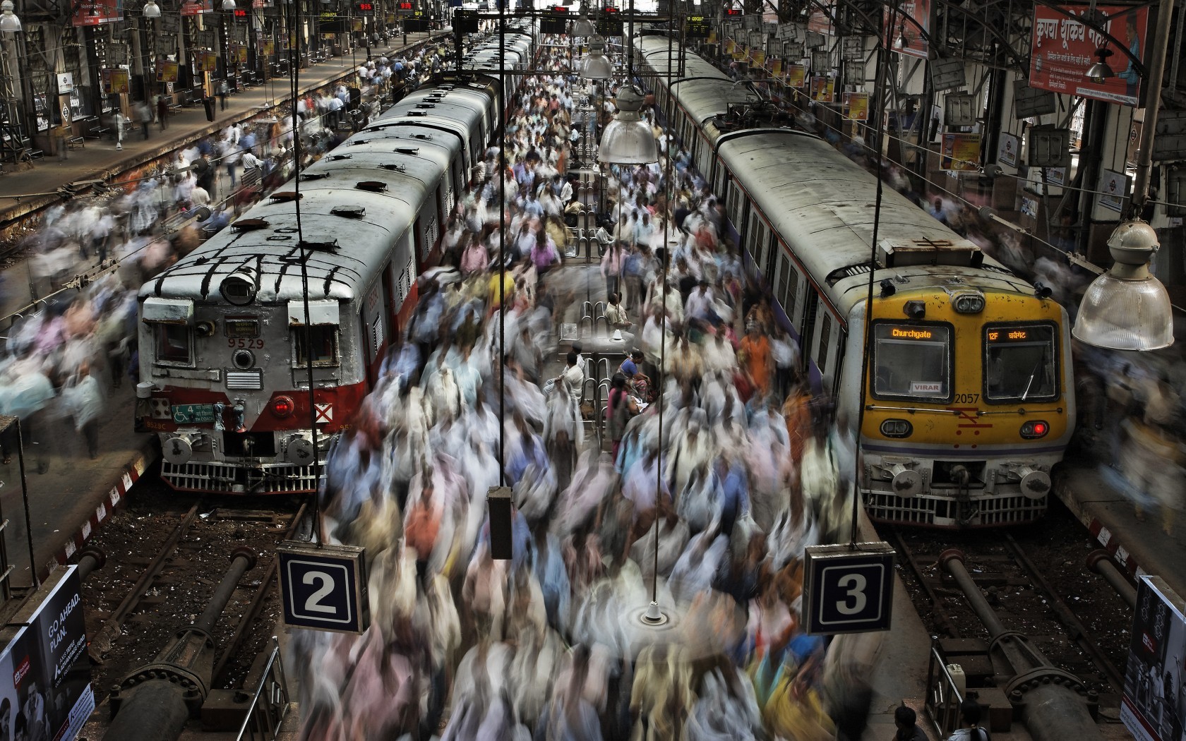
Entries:
[[[1131,58],[1123,50],[1112,49],[1114,45],[1108,38],[1095,28],[1088,28],[1075,19],[1088,12],[1086,6],[1060,5],[1059,9],[1045,5],[1034,6],[1029,87],[1137,106],[1141,96],[1141,76]],[[1134,57],[1143,60],[1149,8],[1110,5],[1097,6],[1096,9],[1108,18],[1103,24],[1104,30],[1122,41]],[[1097,49],[1111,49],[1112,52],[1108,64],[1116,76],[1103,82],[1091,82],[1084,75],[1095,63]]]

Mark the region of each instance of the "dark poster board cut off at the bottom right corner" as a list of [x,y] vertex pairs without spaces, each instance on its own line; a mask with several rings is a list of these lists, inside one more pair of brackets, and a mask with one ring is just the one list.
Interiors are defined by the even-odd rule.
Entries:
[[1136,586],[1120,717],[1137,741],[1178,741],[1186,691],[1186,605],[1160,576]]

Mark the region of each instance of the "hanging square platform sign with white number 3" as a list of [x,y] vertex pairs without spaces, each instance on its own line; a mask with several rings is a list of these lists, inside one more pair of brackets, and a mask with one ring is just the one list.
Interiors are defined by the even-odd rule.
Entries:
[[888,543],[806,549],[808,633],[888,631],[894,551]]

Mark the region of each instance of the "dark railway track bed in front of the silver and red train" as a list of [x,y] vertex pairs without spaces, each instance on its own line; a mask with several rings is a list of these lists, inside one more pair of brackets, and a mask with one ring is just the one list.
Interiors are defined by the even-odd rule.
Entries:
[[[159,479],[145,484],[148,490],[165,488]],[[95,536],[107,563],[83,590],[96,700],[102,702],[125,675],[152,662],[179,630],[195,622],[232,551],[246,549],[256,564],[235,585],[212,634],[213,686],[237,688],[274,632],[275,547],[301,526],[305,504],[136,493]]]

